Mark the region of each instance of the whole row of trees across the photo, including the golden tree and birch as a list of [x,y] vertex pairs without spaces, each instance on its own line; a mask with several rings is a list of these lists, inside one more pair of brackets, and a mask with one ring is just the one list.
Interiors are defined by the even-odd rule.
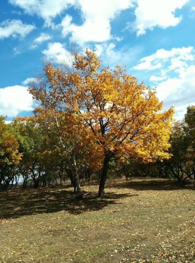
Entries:
[[107,177],[194,180],[195,107],[182,122],[174,109],[162,111],[156,92],[116,66],[101,67],[95,52],[75,54],[72,66],[44,68],[29,87],[34,115],[10,124],[0,118],[0,188],[22,178],[23,188],[62,184],[67,178],[77,197],[81,181]]

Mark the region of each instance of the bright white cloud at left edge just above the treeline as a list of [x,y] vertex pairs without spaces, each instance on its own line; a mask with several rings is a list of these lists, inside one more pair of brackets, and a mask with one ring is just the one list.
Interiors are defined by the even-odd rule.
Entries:
[[32,105],[33,98],[26,87],[16,85],[0,89],[0,115],[15,117],[23,110],[33,110]]

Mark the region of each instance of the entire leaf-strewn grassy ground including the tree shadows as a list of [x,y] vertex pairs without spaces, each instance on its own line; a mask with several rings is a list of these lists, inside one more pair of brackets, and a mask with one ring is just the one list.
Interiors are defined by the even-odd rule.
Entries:
[[195,188],[162,179],[0,193],[0,262],[195,262]]

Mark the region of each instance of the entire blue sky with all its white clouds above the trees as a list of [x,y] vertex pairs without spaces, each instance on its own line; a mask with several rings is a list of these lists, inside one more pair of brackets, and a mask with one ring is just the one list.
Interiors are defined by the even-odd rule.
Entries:
[[102,64],[156,87],[182,119],[195,104],[195,0],[1,0],[0,114],[32,113],[27,91],[44,61],[96,49]]

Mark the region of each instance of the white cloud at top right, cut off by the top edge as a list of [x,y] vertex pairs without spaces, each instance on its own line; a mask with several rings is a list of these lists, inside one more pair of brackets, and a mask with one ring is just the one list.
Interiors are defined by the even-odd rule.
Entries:
[[137,31],[137,36],[145,34],[147,29],[152,30],[158,26],[167,28],[176,26],[181,22],[182,17],[176,17],[176,9],[181,9],[190,0],[137,0],[135,9],[136,20],[132,25],[132,29]]

